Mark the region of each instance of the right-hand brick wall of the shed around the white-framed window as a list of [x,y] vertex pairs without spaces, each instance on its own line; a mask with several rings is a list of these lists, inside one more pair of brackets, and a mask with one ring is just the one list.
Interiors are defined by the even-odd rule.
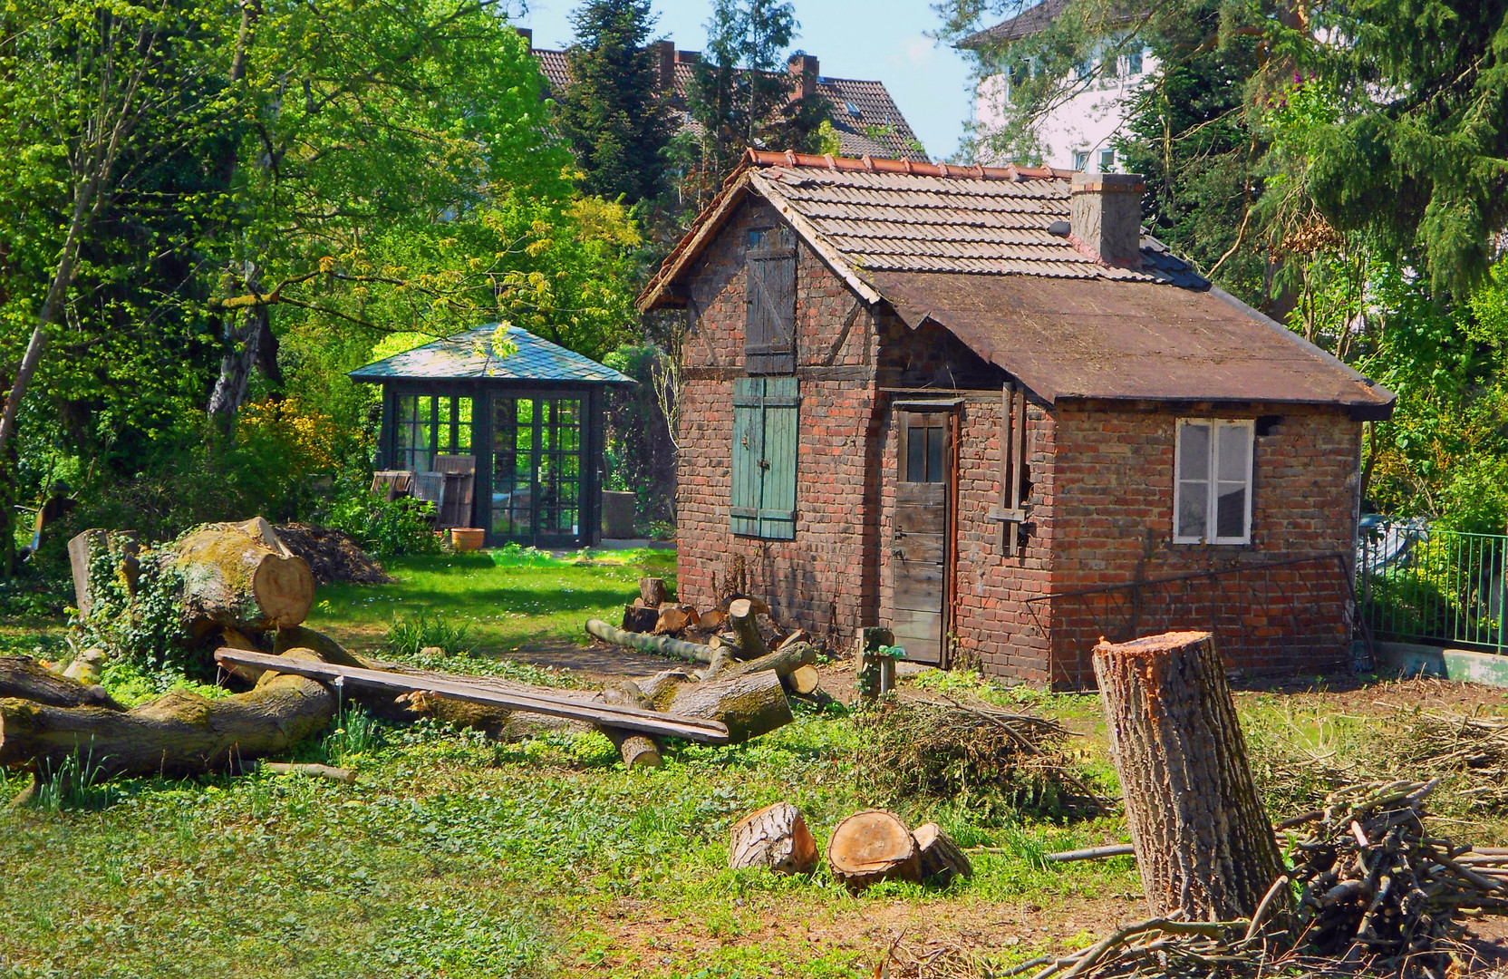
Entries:
[[[1164,629],[1211,629],[1226,665],[1318,670],[1350,655],[1347,569],[1357,507],[1360,425],[1292,406],[1057,407],[1053,591],[1220,572],[1053,599],[1056,685],[1089,686],[1093,644]],[[1175,545],[1179,416],[1261,418],[1250,545]],[[1345,567],[1332,554],[1345,555]],[[1303,560],[1309,558],[1309,560]],[[1291,561],[1270,566],[1274,561]],[[1261,567],[1261,566],[1268,567]]]

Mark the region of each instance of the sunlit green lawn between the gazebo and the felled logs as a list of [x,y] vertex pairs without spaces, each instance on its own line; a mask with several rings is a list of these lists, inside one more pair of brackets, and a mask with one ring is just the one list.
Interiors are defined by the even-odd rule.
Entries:
[[584,643],[590,617],[617,621],[644,575],[674,576],[673,551],[584,551],[566,560],[504,549],[385,563],[394,585],[324,585],[308,625],[375,649],[395,620],[443,615],[481,653],[529,641]]

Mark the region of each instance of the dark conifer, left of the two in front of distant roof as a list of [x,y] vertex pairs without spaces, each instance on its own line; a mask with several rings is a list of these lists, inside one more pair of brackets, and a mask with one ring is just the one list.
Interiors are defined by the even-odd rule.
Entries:
[[650,0],[590,0],[572,24],[572,84],[559,127],[585,172],[582,189],[630,205],[659,198],[671,119],[659,63],[645,45],[654,26]]

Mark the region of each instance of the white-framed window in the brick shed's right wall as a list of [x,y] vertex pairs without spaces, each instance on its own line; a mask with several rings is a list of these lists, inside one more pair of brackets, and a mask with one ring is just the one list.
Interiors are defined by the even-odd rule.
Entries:
[[1175,545],[1252,543],[1253,422],[1179,418]]

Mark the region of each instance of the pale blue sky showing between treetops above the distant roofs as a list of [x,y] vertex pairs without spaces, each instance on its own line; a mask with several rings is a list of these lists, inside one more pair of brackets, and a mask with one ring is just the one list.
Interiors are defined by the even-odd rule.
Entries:
[[[514,23],[534,29],[534,47],[561,48],[572,39],[569,15],[581,0],[529,0]],[[926,36],[939,24],[927,0],[795,0],[799,36],[792,48],[816,54],[823,75],[884,81],[927,155],[958,151],[971,115],[968,63]],[[683,51],[706,45],[709,0],[654,0],[656,38]]]

